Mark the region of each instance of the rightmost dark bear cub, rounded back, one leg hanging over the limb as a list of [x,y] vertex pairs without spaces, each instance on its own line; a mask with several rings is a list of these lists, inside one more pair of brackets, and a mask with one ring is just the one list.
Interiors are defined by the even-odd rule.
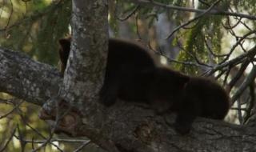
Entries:
[[182,91],[181,100],[174,105],[177,111],[175,129],[181,134],[190,131],[197,116],[222,120],[230,108],[230,98],[216,82],[207,78],[190,77]]

